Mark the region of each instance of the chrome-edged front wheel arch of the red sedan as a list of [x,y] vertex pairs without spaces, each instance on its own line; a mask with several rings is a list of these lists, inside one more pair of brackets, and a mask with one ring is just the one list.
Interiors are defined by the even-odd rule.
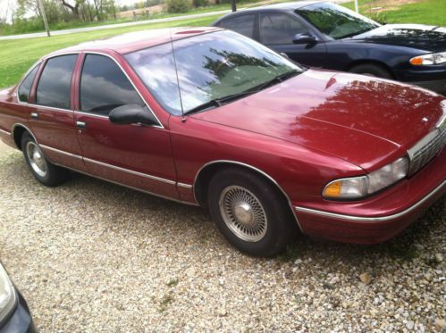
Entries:
[[207,206],[206,190],[207,187],[209,186],[209,182],[214,177],[215,173],[225,168],[238,168],[244,171],[254,172],[257,173],[257,175],[261,175],[264,179],[267,179],[268,182],[278,190],[279,195],[282,196],[282,198],[286,201],[286,203],[288,203],[292,216],[294,217],[296,223],[298,224],[300,231],[303,232],[303,229],[300,227],[298,217],[296,216],[296,212],[294,212],[294,209],[292,207],[290,196],[288,196],[286,192],[283,190],[283,188],[279,185],[279,183],[265,171],[262,171],[257,167],[244,162],[217,160],[217,161],[207,162],[206,164],[204,164],[198,170],[192,187],[195,200],[197,201],[198,204],[200,204],[203,207]]

